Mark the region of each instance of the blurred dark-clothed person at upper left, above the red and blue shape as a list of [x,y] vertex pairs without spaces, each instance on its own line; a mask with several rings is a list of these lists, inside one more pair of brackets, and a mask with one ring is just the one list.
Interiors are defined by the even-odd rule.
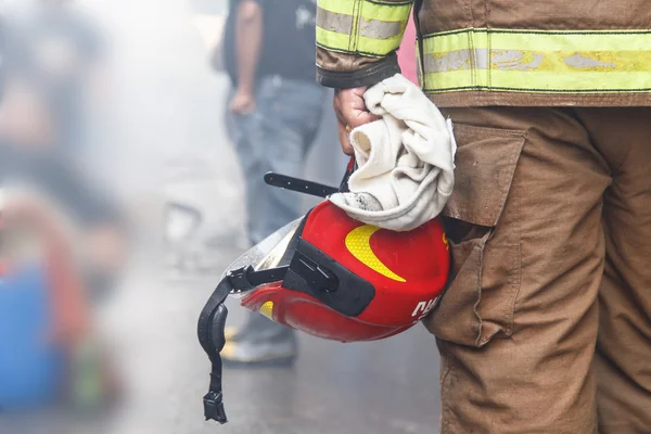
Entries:
[[0,180],[37,187],[74,217],[87,290],[102,294],[124,265],[125,225],[78,157],[92,145],[85,113],[97,93],[101,38],[67,1],[39,1],[8,23]]

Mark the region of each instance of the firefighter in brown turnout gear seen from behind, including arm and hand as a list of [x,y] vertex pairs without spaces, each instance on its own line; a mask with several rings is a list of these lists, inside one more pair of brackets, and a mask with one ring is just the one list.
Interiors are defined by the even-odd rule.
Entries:
[[651,432],[649,3],[319,0],[346,153],[410,13],[459,145],[452,276],[424,320],[442,433]]

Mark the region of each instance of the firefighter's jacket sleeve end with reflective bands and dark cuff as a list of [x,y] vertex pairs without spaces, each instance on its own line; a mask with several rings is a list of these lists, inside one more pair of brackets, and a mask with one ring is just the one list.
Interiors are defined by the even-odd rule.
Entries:
[[413,0],[318,0],[317,81],[346,89],[400,72],[396,50]]

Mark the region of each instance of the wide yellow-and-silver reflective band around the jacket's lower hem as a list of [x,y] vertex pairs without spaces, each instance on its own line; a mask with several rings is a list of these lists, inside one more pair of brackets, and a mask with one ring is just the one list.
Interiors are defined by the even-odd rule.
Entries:
[[651,90],[651,30],[464,29],[423,38],[429,92]]

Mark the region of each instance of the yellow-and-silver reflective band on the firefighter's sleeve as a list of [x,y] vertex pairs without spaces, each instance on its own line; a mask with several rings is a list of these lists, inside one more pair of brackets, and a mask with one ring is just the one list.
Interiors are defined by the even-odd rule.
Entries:
[[332,51],[384,56],[396,50],[412,0],[319,0],[317,44]]

